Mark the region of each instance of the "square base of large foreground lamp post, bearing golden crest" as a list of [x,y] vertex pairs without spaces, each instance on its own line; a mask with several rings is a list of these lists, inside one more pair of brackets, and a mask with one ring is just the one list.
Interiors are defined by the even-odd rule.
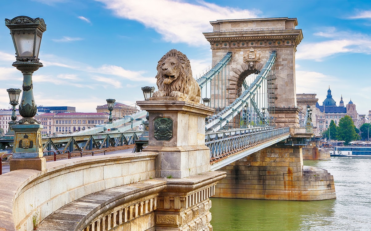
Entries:
[[43,158],[40,124],[16,124],[14,130],[13,158],[10,171],[17,169],[45,170],[46,160]]

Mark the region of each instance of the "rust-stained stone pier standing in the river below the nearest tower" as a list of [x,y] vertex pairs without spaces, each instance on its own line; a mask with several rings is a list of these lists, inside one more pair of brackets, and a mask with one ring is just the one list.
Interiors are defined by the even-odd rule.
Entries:
[[272,145],[220,169],[215,197],[266,200],[336,198],[327,170],[303,166],[301,146]]

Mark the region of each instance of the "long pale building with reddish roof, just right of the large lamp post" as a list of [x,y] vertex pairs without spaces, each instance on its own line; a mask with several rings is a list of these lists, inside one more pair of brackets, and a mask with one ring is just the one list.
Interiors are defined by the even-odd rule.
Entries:
[[108,121],[108,113],[44,113],[35,116],[44,129],[42,134],[69,134]]

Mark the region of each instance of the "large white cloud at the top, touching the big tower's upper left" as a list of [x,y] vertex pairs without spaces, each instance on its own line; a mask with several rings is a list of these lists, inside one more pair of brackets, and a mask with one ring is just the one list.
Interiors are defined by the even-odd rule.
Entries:
[[139,21],[162,34],[165,41],[191,46],[209,44],[203,32],[211,31],[209,21],[256,18],[259,11],[220,7],[197,1],[191,4],[173,0],[96,0],[104,3],[117,17]]

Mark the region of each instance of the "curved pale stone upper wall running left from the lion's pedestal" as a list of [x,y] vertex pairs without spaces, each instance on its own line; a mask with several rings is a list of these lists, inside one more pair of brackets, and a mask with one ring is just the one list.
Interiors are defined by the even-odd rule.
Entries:
[[154,178],[155,152],[111,154],[48,162],[46,170],[15,170],[0,176],[0,230],[33,230],[33,217],[86,195]]

